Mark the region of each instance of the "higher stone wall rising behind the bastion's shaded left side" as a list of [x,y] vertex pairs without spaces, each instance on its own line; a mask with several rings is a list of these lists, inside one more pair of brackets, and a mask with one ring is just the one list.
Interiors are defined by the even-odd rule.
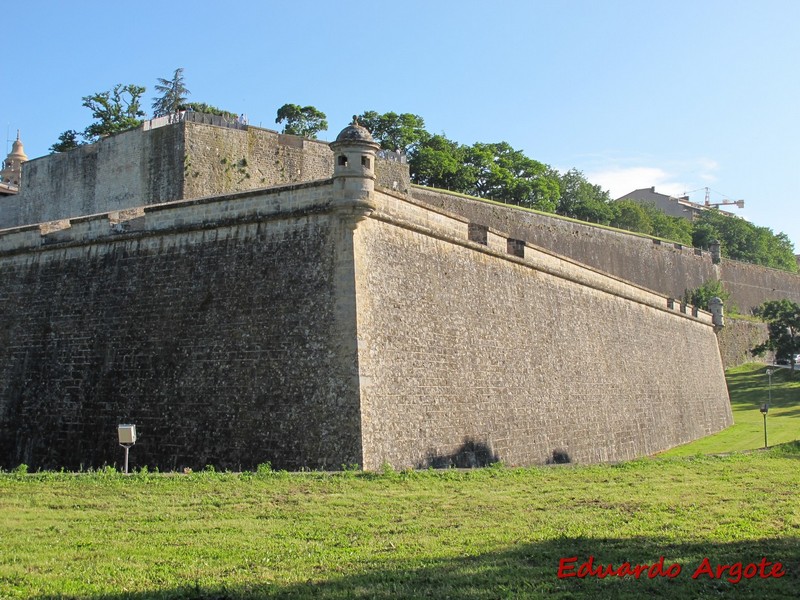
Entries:
[[[408,165],[385,154],[376,161],[376,184],[405,193]],[[27,162],[20,193],[0,201],[0,229],[332,175],[326,142],[182,121]]]

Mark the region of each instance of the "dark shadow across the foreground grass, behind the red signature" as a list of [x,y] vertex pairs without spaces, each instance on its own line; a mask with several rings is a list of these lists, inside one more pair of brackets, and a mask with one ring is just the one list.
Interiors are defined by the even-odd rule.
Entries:
[[[559,561],[577,557],[575,566],[594,556],[595,564],[612,563],[615,568],[624,562],[632,565],[652,564],[664,557],[664,570],[671,564],[681,565],[674,578],[646,573],[636,579],[628,577],[571,577],[559,579]],[[766,558],[769,563],[783,564],[783,577],[741,578],[734,583],[730,575],[712,578],[701,573],[692,575],[708,559],[712,569],[718,564],[756,563]],[[355,567],[350,567],[355,570]],[[769,575],[773,565],[767,565]],[[561,538],[520,544],[508,550],[455,559],[416,559],[393,561],[376,558],[357,573],[314,575],[306,582],[275,585],[253,581],[252,584],[225,586],[187,584],[183,588],[103,594],[92,599],[204,599],[233,600],[239,598],[788,598],[796,597],[800,583],[800,539],[764,539],[758,542],[723,544],[681,543],[662,539],[587,539]],[[86,598],[87,596],[81,596]],[[71,598],[45,596],[46,600]]]

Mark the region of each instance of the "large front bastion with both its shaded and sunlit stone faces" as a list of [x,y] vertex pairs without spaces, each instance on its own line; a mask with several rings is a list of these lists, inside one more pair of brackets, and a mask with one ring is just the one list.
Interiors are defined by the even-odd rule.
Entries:
[[620,460],[731,423],[707,313],[335,183],[3,232],[0,466],[113,464],[123,422],[161,469]]

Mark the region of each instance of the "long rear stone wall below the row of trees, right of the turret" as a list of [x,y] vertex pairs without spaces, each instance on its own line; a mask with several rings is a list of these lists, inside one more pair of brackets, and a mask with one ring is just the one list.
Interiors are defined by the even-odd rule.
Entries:
[[412,194],[425,205],[508,232],[512,237],[673,298],[719,279],[730,293],[731,302],[742,312],[770,299],[800,302],[800,276],[793,273],[725,259],[715,265],[708,252],[680,244],[437,190],[414,187]]

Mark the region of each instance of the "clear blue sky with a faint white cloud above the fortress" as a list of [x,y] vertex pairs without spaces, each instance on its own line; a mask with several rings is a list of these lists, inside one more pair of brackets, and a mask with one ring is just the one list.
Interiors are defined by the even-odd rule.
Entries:
[[621,196],[702,202],[783,231],[800,252],[797,0],[195,0],[6,6],[0,125],[29,157],[91,122],[81,98],[185,69],[190,99],[276,128],[411,112],[464,144],[506,141]]

